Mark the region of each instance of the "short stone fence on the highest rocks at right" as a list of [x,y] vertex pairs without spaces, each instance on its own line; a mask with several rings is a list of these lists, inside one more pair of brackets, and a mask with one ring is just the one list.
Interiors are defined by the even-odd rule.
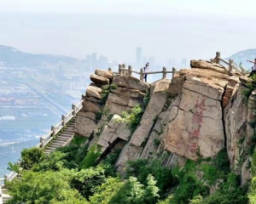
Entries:
[[220,52],[216,52],[216,56],[215,56],[215,58],[211,59],[211,62],[214,62],[217,64],[220,64],[220,62],[223,62],[224,64],[229,65],[228,69],[226,67],[224,67],[225,71],[231,72],[234,69],[234,70],[238,71],[239,73],[241,73],[241,75],[247,74],[247,71],[244,67],[242,67],[241,65],[238,66],[234,63],[234,59],[229,59],[229,61],[222,59],[220,57]]

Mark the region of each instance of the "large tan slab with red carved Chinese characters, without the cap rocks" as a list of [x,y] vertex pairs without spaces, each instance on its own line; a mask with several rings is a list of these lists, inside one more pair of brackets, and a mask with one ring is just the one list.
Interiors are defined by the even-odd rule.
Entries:
[[221,100],[222,83],[186,77],[180,101],[172,105],[169,123],[163,133],[165,149],[195,160],[215,156],[224,148]]

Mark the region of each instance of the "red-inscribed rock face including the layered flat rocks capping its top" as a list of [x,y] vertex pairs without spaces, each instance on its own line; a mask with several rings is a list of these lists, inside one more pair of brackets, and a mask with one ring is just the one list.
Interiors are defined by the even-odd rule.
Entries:
[[[207,61],[192,60],[191,67],[177,72],[172,79],[169,90],[179,97],[170,110],[162,140],[166,150],[195,160],[197,152],[212,157],[223,149],[226,132],[227,137],[232,137],[227,130],[229,119],[224,118],[224,108],[228,110],[230,101],[234,101],[240,79],[236,72],[230,74],[222,65]],[[246,111],[240,111],[247,115]],[[230,116],[232,111],[227,112]]]

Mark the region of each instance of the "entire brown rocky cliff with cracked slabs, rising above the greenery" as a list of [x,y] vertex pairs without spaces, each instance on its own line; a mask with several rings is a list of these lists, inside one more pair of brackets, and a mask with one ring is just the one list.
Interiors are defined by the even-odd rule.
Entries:
[[[174,167],[187,159],[214,157],[225,148],[241,183],[251,178],[256,93],[248,102],[243,94],[251,79],[203,60],[192,60],[191,69],[177,71],[172,80],[152,84],[102,70],[90,79],[75,132],[99,147],[96,162],[119,148],[119,172],[126,161],[139,158]],[[127,116],[137,105],[143,111],[131,128],[124,111]]]

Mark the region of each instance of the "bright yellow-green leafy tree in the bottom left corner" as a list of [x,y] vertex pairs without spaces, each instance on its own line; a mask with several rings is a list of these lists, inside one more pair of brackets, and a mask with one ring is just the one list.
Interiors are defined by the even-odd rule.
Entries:
[[69,170],[44,173],[24,171],[18,181],[7,182],[13,197],[9,204],[88,203],[78,190],[70,187],[72,176],[73,172]]

